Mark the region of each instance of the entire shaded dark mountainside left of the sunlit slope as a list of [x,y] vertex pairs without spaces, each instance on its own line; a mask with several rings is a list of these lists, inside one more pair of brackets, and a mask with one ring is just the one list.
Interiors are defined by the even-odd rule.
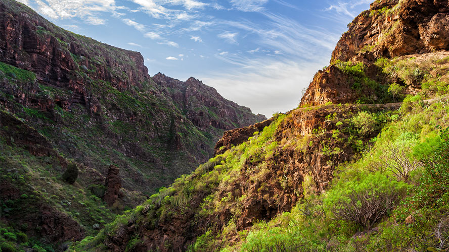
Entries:
[[40,247],[94,235],[206,162],[225,131],[266,119],[13,0],[0,18],[2,226]]

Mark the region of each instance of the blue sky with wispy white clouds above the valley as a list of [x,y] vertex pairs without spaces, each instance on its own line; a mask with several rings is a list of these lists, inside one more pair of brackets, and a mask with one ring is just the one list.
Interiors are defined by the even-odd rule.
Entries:
[[142,53],[270,117],[299,104],[346,25],[373,0],[20,0],[72,32]]

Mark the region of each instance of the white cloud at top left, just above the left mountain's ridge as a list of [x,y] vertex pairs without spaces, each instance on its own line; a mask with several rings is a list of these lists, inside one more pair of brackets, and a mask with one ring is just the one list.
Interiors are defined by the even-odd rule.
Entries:
[[[101,13],[111,13],[117,7],[114,0],[36,0],[37,11],[51,19],[71,19],[78,17],[93,25],[105,24]],[[22,3],[28,5],[28,0]]]

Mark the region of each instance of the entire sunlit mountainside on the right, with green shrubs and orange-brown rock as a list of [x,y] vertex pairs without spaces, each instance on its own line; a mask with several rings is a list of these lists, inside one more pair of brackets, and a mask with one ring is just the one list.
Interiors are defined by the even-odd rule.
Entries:
[[449,3],[377,0],[300,106],[70,251],[446,251]]

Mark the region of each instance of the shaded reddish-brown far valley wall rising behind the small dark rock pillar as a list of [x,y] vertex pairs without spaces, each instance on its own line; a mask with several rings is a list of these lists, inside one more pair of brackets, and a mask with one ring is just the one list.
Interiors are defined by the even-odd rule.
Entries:
[[113,161],[126,190],[154,192],[208,160],[225,130],[265,119],[194,78],[151,78],[139,52],[0,5],[0,108],[103,176]]

